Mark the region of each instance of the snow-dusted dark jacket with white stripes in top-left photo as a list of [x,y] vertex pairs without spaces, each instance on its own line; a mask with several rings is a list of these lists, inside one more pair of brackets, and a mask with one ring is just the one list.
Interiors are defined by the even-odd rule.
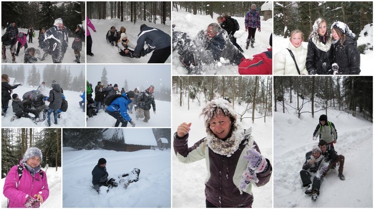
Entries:
[[49,40],[49,53],[52,55],[60,54],[63,55],[69,46],[68,32],[64,26],[62,30],[58,26],[54,25],[45,31],[44,36],[41,36],[42,41]]

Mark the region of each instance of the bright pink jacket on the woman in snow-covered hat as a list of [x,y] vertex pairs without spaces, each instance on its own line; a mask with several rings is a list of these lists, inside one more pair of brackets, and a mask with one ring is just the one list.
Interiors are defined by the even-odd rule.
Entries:
[[[19,164],[23,167],[21,162]],[[43,178],[40,173],[43,173]],[[25,208],[24,204],[28,196],[33,197],[36,194],[41,195],[45,202],[49,196],[47,175],[41,170],[31,177],[31,174],[23,167],[22,177],[19,180],[17,166],[14,165],[6,175],[3,194],[9,200],[8,208]]]

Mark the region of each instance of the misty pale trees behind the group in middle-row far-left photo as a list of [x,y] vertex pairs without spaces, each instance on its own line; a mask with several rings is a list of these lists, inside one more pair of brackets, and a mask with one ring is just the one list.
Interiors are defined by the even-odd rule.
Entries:
[[[18,82],[27,83],[29,86],[38,87],[43,81],[49,86],[52,80],[56,80],[64,90],[85,90],[84,68],[82,68],[78,76],[72,77],[69,66],[47,65],[43,69],[39,69],[38,67],[32,65],[27,77],[25,77],[23,65],[19,65],[16,68],[10,65],[3,65],[1,71],[3,74],[7,74],[9,77],[15,77]],[[42,75],[40,75],[41,70]],[[42,80],[40,80],[40,78],[42,78]]]

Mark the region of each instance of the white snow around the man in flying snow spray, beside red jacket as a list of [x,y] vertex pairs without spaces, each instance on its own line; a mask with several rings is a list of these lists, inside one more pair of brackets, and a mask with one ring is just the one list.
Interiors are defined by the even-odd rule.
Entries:
[[[175,31],[183,31],[193,39],[200,30],[206,30],[206,27],[210,23],[216,23],[218,14],[214,13],[213,18],[210,15],[200,15],[188,13],[183,9],[178,11],[173,10],[173,24],[175,24]],[[245,58],[252,58],[253,55],[260,54],[267,51],[269,45],[270,34],[273,32],[273,19],[263,20],[261,16],[261,32],[256,31],[256,41],[254,48],[245,49],[248,32],[245,32],[244,17],[232,17],[236,19],[240,25],[240,30],[236,31],[234,36],[236,42],[244,50],[243,55]],[[173,51],[173,74],[187,74],[186,68],[183,67],[179,60],[179,54],[177,51]],[[209,66],[205,69],[205,74],[239,74],[237,66]]]

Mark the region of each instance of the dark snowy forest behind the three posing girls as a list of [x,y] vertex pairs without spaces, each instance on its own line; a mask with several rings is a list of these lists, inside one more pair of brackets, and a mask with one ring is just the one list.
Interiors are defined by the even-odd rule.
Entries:
[[274,34],[287,38],[299,29],[307,41],[319,17],[326,19],[329,31],[341,21],[359,37],[364,26],[373,23],[373,1],[274,1]]

